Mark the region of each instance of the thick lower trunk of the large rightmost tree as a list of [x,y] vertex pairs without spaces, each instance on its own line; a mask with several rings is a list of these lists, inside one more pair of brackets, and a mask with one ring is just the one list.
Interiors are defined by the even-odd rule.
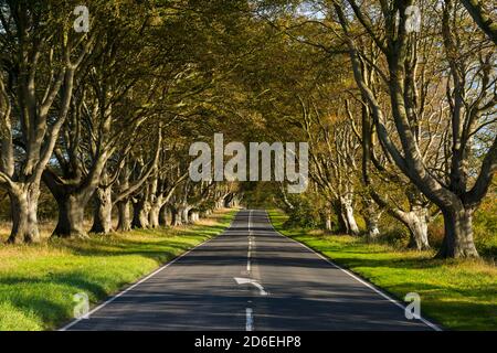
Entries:
[[478,257],[473,239],[473,210],[458,207],[442,208],[445,237],[436,257]]

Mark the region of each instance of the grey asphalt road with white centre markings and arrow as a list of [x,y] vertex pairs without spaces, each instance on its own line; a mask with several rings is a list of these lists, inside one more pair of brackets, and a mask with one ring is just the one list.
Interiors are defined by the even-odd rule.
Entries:
[[433,330],[399,302],[241,211],[194,248],[64,330]]

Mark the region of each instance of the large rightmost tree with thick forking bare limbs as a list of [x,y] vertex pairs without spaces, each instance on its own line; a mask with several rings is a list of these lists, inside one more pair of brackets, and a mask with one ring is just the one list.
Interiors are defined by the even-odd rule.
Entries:
[[[491,178],[497,169],[497,137],[488,148],[480,149],[482,163],[478,169],[469,171],[469,159],[475,148],[474,138],[482,129],[493,124],[489,114],[496,101],[495,94],[495,50],[485,44],[476,29],[470,25],[464,35],[454,36],[455,28],[467,23],[461,9],[453,1],[445,1],[442,14],[427,12],[442,22],[442,38],[445,55],[443,60],[448,66],[450,76],[445,77],[446,100],[450,105],[447,126],[451,135],[450,153],[446,157],[444,170],[433,169],[421,154],[422,146],[416,140],[415,121],[416,95],[419,82],[416,73],[417,45],[416,33],[408,32],[406,8],[413,1],[394,1],[379,7],[381,21],[373,22],[373,8],[356,1],[347,1],[349,8],[334,2],[338,21],[343,33],[343,41],[349,49],[356,82],[361,94],[368,99],[374,116],[378,137],[395,162],[398,168],[410,181],[434,204],[444,216],[445,237],[440,257],[477,257],[473,240],[472,217],[474,211],[485,196]],[[378,8],[377,8],[378,9]],[[383,78],[390,97],[390,109],[380,105],[374,92],[361,75],[361,51],[351,32],[348,14],[353,13],[357,22],[366,30],[384,57],[385,68],[378,65],[376,71]],[[398,15],[399,14],[399,15]],[[399,19],[399,21],[396,21]],[[466,22],[464,22],[466,21]],[[422,33],[422,32],[421,32]],[[469,49],[467,41],[478,39],[479,45]],[[457,41],[457,44],[456,44]],[[457,50],[456,50],[457,45]],[[459,53],[467,57],[461,60]],[[469,77],[469,78],[468,78]],[[385,124],[391,114],[395,126],[395,136],[388,133]],[[474,174],[476,178],[472,178]]]

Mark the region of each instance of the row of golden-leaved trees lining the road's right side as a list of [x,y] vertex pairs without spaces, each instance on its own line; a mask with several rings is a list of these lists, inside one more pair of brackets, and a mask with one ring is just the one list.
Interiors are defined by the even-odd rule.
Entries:
[[[421,13],[412,29],[412,7]],[[497,170],[495,13],[478,1],[284,1],[266,19],[282,32],[283,73],[267,67],[278,139],[310,145],[310,188],[327,228],[371,239],[388,213],[438,257],[477,257],[472,220]],[[275,53],[277,57],[278,54]],[[268,64],[269,66],[271,64]],[[267,79],[267,75],[271,77]],[[284,77],[284,78],[281,78]],[[261,78],[263,79],[263,78]],[[261,85],[263,89],[264,85]]]

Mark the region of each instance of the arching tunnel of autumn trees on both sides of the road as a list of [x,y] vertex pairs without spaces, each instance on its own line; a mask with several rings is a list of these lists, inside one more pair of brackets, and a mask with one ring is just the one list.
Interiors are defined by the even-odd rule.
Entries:
[[[438,222],[438,257],[478,257],[473,217],[495,203],[497,170],[490,2],[92,0],[87,32],[77,4],[0,2],[4,246],[44,240],[47,205],[52,237],[84,238],[262,192],[296,222],[370,240],[389,217],[420,250]],[[189,147],[216,132],[308,142],[307,191],[192,182]]]

